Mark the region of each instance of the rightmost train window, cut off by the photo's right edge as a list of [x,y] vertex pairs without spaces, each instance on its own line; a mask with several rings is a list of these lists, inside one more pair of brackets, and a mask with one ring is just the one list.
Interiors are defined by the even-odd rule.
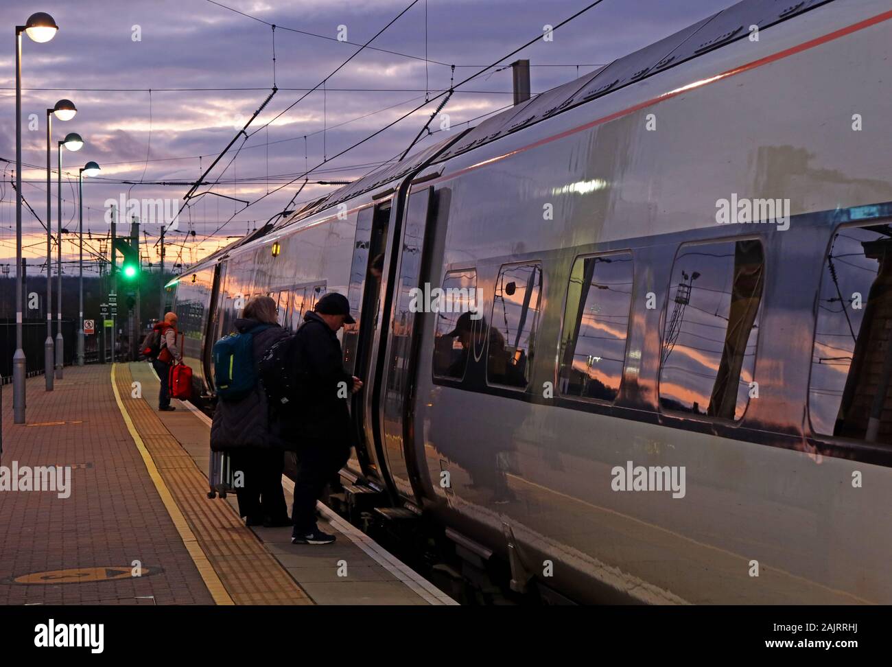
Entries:
[[892,226],[842,227],[824,262],[809,415],[824,435],[892,444]]

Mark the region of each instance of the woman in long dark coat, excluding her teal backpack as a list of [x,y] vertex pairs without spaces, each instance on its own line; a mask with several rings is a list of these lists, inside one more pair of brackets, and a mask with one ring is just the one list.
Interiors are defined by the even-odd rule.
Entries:
[[[259,364],[273,343],[289,335],[277,323],[276,301],[255,296],[235,320],[238,333],[252,332],[254,363]],[[235,489],[238,512],[247,525],[291,525],[282,472],[284,442],[270,428],[266,391],[255,384],[253,391],[237,401],[219,400],[211,424],[211,449],[228,451],[234,473],[243,473],[244,486]]]

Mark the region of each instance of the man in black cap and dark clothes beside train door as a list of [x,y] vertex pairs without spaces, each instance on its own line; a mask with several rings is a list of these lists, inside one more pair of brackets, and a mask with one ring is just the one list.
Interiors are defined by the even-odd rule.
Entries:
[[319,531],[316,525],[316,501],[326,483],[347,463],[355,444],[347,400],[350,392],[362,388],[355,375],[343,369],[343,352],[337,332],[343,325],[354,324],[350,301],[343,294],[329,292],[304,316],[298,335],[312,384],[309,416],[296,435],[300,440],[297,479],[294,482],[292,518],[293,544],[329,544],[334,535]]

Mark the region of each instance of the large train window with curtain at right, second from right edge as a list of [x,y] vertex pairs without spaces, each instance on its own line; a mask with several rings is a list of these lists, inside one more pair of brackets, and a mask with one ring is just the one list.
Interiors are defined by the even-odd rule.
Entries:
[[660,405],[739,419],[754,388],[764,285],[755,240],[682,245],[660,346]]

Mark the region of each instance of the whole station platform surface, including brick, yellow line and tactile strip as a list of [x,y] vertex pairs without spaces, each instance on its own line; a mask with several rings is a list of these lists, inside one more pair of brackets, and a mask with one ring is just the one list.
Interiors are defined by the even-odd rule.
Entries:
[[[29,378],[26,424],[2,391],[0,605],[455,604],[326,506],[335,544],[293,545],[246,527],[233,494],[207,498],[211,422],[159,412],[147,363],[67,367],[54,391]],[[52,465],[67,487],[29,490]]]

